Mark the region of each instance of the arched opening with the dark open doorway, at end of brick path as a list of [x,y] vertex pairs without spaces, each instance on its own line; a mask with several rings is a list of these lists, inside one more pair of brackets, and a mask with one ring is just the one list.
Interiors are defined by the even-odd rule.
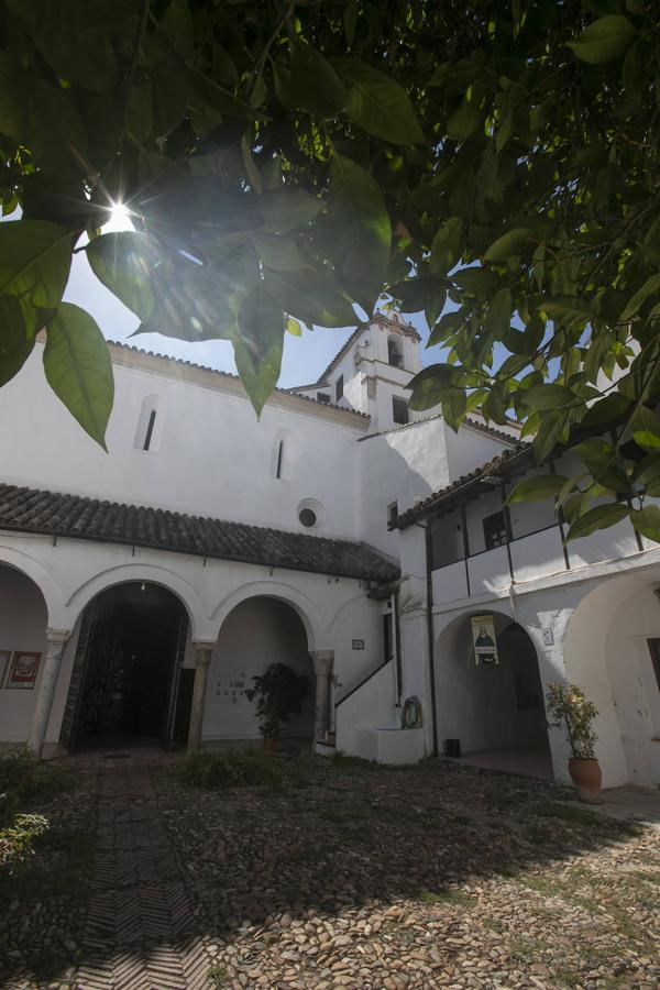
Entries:
[[173,592],[131,581],[98,594],[80,617],[61,743],[69,749],[187,740],[194,668],[188,616]]

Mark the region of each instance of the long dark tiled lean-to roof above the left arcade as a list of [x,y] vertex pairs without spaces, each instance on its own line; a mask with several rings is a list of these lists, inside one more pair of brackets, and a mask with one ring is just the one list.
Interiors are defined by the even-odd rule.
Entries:
[[0,483],[0,529],[377,582],[392,581],[398,573],[386,554],[363,540],[4,483]]

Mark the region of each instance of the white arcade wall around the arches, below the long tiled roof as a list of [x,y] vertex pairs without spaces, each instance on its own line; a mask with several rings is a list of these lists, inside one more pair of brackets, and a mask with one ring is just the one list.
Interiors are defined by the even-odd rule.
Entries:
[[[337,673],[346,688],[381,662],[383,605],[367,600],[366,588],[353,579],[329,580],[324,574],[220,560],[208,560],[205,565],[201,558],[188,554],[140,548],[133,552],[131,547],[80,540],[59,539],[54,546],[50,538],[20,534],[0,535],[0,564],[3,562],[31,574],[47,603],[47,613],[43,604],[41,612],[31,612],[25,606],[23,614],[18,613],[22,617],[11,631],[13,626],[10,629],[9,622],[16,614],[11,588],[20,584],[30,588],[30,583],[19,570],[7,569],[9,578],[4,586],[11,594],[7,600],[0,598],[0,629],[7,626],[8,638],[18,636],[22,640],[21,649],[42,649],[48,625],[70,629],[74,634],[57,681],[46,736],[51,741],[59,737],[79,616],[95,595],[124,581],[146,581],[173,591],[186,606],[193,639],[215,641],[237,605],[246,598],[267,596],[287,602],[296,609],[306,630],[309,650],[334,650],[337,645]],[[352,649],[353,638],[364,640],[363,651]],[[0,648],[11,647],[1,644]],[[186,666],[191,661],[191,650],[188,650]],[[34,692],[0,691],[0,695],[6,693],[34,696]],[[26,707],[24,712],[16,710],[22,714],[16,717],[15,725],[0,721],[0,741],[4,725],[9,726],[6,729],[8,738],[14,738],[16,733],[19,739],[28,737],[33,703],[24,701],[21,704]]]

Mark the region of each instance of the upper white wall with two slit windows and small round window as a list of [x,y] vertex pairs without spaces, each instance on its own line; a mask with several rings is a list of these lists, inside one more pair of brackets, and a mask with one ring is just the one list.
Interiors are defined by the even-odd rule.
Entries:
[[[302,398],[275,396],[256,420],[235,380],[116,350],[116,400],[105,453],[45,382],[37,344],[25,367],[0,389],[2,481],[154,505],[193,515],[302,530],[298,505],[326,508],[314,531],[355,538],[351,484],[355,440],[366,420]],[[190,381],[194,375],[195,381]],[[158,400],[155,449],[135,447],[144,400]],[[285,477],[274,476],[275,443],[285,437]]]

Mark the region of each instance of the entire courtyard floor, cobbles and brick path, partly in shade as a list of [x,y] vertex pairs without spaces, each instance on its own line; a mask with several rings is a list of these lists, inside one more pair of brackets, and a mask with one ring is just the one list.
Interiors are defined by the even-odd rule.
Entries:
[[76,790],[0,880],[0,986],[660,982],[658,831],[448,762],[284,756],[283,784],[229,791],[177,762],[69,761]]

